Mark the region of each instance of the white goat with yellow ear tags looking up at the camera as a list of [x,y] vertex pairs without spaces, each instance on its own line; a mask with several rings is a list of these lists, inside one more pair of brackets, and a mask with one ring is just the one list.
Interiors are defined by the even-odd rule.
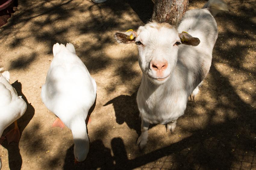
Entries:
[[137,145],[148,141],[149,124],[166,124],[174,131],[176,120],[184,114],[190,94],[207,75],[217,40],[216,14],[227,10],[222,0],[210,0],[203,9],[188,10],[178,28],[168,23],[149,22],[137,32],[114,34],[118,43],[136,43],[142,80],[137,104],[142,118]]

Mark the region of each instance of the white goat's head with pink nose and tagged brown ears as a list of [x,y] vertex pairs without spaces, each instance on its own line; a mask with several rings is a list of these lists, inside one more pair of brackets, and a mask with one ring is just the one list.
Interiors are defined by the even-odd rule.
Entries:
[[139,49],[139,66],[154,84],[163,84],[170,77],[177,62],[178,45],[197,46],[198,38],[186,32],[178,33],[168,23],[149,22],[137,32],[128,30],[114,34],[118,43],[136,43]]

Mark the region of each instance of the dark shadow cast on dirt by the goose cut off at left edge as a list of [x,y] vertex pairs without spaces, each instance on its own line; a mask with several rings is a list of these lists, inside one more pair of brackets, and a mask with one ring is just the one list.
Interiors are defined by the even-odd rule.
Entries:
[[[27,103],[27,110],[24,113],[21,118],[17,120],[18,122],[18,127],[20,129],[20,136],[22,135],[23,130],[27,127],[29,124],[30,120],[33,118],[35,114],[35,109],[31,105],[31,103],[28,103],[27,98],[24,96],[22,93],[22,85],[20,82],[16,81],[11,84],[15,90],[17,91],[18,96],[22,96],[22,99]],[[10,131],[14,127],[14,124],[11,124],[9,127],[7,127],[3,133],[5,135],[8,131]],[[22,157],[20,155],[20,149],[19,149],[19,144],[18,143],[10,143],[7,145],[7,141],[5,140],[2,143],[2,146],[5,147],[8,150],[8,160],[9,160],[9,167],[10,170],[17,170],[21,169],[22,165]]]

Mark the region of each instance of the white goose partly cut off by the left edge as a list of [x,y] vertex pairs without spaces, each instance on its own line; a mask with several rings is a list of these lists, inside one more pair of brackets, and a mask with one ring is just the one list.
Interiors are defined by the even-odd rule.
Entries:
[[[3,68],[0,68],[2,71]],[[10,73],[8,71],[0,73],[0,144],[7,139],[8,144],[19,142],[20,130],[17,119],[20,118],[27,109],[27,103],[18,96],[16,90],[9,83]],[[14,129],[2,136],[3,131],[14,122]]]

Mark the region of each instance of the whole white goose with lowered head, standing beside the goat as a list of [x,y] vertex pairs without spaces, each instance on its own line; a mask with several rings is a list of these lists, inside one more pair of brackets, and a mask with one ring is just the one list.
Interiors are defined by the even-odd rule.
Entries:
[[57,119],[53,126],[63,128],[64,123],[72,131],[75,162],[81,162],[89,151],[85,120],[96,98],[96,82],[76,55],[73,44],[56,43],[53,56],[42,85],[42,101],[61,119]]

